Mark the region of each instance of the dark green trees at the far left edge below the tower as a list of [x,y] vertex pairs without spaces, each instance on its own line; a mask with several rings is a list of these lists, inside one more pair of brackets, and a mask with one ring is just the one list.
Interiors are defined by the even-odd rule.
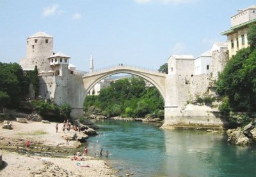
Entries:
[[20,99],[27,94],[29,78],[17,63],[0,62],[0,91],[10,96],[8,106],[17,106]]

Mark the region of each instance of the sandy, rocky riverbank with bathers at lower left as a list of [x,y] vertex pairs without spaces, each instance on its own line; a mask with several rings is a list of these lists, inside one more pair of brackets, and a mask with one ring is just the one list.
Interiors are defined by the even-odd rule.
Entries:
[[[58,156],[70,155],[81,146],[80,138],[88,137],[83,132],[62,132],[61,127],[56,132],[56,122],[10,123],[12,129],[0,128],[0,176],[114,176],[115,171],[104,160],[84,156],[84,160],[76,161]],[[31,141],[29,150],[26,141]]]

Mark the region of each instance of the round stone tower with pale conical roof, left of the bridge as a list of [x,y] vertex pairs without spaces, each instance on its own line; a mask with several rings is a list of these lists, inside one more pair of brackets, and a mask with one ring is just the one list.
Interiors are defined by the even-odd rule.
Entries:
[[20,60],[23,70],[33,70],[38,67],[38,72],[50,71],[49,56],[53,54],[53,38],[45,32],[36,32],[26,41],[26,58]]

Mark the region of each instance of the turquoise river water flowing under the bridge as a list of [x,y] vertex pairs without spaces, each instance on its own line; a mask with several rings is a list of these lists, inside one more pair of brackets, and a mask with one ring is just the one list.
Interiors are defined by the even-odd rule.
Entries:
[[256,176],[256,148],[229,145],[219,133],[162,130],[141,122],[95,124],[99,136],[88,139],[89,155],[107,159],[122,176]]

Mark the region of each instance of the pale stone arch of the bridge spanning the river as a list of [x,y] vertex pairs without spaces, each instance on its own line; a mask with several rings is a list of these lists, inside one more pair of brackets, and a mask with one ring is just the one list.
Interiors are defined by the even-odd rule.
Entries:
[[141,78],[149,81],[154,85],[157,90],[159,90],[163,100],[165,102],[165,73],[159,73],[159,71],[150,71],[146,69],[140,69],[138,67],[131,66],[115,66],[109,67],[108,69],[104,69],[102,71],[88,73],[83,76],[84,88],[86,92],[84,92],[83,99],[85,100],[88,92],[92,89],[92,87],[98,83],[100,80],[120,73],[133,74],[136,76],[140,76]]

